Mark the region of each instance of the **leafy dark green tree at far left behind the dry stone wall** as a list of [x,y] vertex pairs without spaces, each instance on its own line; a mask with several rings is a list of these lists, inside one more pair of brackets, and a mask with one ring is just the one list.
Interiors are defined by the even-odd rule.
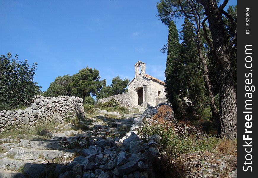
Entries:
[[39,93],[34,82],[37,63],[32,67],[28,61],[18,61],[18,55],[12,59],[12,53],[0,55],[0,110],[26,106]]

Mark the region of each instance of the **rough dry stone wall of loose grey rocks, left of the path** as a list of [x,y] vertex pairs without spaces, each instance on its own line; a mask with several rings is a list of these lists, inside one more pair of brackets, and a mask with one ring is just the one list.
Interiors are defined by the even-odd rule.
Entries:
[[63,123],[66,115],[84,117],[83,99],[79,97],[58,96],[43,97],[38,96],[34,103],[25,110],[0,112],[0,132],[9,126],[15,128],[32,127],[37,123],[44,123],[46,119],[53,119]]

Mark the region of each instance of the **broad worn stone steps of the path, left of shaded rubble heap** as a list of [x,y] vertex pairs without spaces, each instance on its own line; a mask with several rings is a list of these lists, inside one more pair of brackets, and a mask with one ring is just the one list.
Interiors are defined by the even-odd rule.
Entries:
[[[96,116],[95,118],[92,118],[93,122],[91,124],[94,125],[94,127],[90,131],[94,131],[94,129],[101,128],[101,131],[100,131],[101,135],[96,137],[98,140],[96,141],[98,147],[99,148],[101,147],[102,142],[104,142],[104,144],[111,143],[111,141],[104,141],[103,139],[101,139],[103,135],[108,133],[120,133],[120,128],[122,127],[127,127],[130,129],[135,118],[136,117],[138,118],[140,115],[141,113],[125,114],[125,115],[122,115],[121,118],[119,119],[118,118],[107,119],[103,116],[101,117]],[[112,123],[112,125],[110,125],[110,123]],[[111,128],[111,126],[113,125],[115,125],[116,127]],[[62,157],[64,155],[63,147],[61,144],[59,144],[61,139],[66,137],[68,141],[71,141],[72,139],[76,139],[77,137],[81,136],[81,137],[89,137],[90,141],[92,141],[93,138],[95,139],[95,137],[93,136],[93,134],[89,133],[90,131],[81,131],[80,133],[78,133],[78,131],[73,131],[73,130],[56,131],[55,133],[49,132],[47,133],[49,136],[49,139],[47,140],[9,139],[10,141],[9,143],[8,143],[8,139],[2,140],[7,143],[1,144],[0,147],[3,148],[4,150],[7,150],[7,152],[0,154],[0,169],[1,169],[0,177],[8,177],[8,178],[13,176],[24,177],[24,175],[21,174],[19,171],[21,171],[21,169],[23,169],[23,166],[25,165],[26,165],[26,170],[28,169],[33,170],[34,168],[31,168],[31,166],[32,167],[38,166],[38,169],[41,169],[40,168],[41,165],[47,165],[46,164],[47,160],[50,160],[50,163],[51,163],[53,159]],[[128,132],[126,138],[130,136],[130,133],[131,132]],[[114,139],[114,140],[118,141],[119,139],[121,138]],[[15,143],[12,143],[12,142],[15,142]],[[112,143],[114,144],[115,142],[112,141]],[[107,147],[104,146],[102,148],[102,151],[100,152],[101,153],[100,155],[102,155],[101,161],[107,155],[115,156],[114,150],[108,149],[108,148],[109,148],[108,146]],[[73,156],[74,152],[75,150],[66,150],[66,158]],[[87,155],[84,155],[84,156],[87,156]],[[84,159],[86,158],[83,157],[83,160]],[[107,162],[106,165],[101,166],[101,168],[103,170],[114,169],[115,165],[113,166],[113,163],[115,162],[115,160],[113,159],[112,161]],[[89,166],[94,166],[93,163],[90,161],[87,162],[87,164],[85,165],[87,169],[89,168]],[[137,162],[137,165],[138,165],[138,162]],[[101,175],[101,173],[99,175]],[[106,173],[103,172],[102,175],[105,176]]]

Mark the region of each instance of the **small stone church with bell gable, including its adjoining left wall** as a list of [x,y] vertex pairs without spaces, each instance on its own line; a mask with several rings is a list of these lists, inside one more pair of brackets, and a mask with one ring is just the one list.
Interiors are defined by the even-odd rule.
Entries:
[[128,92],[103,98],[98,102],[103,103],[114,98],[121,106],[146,107],[147,104],[156,106],[160,102],[166,101],[165,82],[146,74],[145,66],[146,63],[142,61],[137,61],[134,65],[135,77],[128,84]]

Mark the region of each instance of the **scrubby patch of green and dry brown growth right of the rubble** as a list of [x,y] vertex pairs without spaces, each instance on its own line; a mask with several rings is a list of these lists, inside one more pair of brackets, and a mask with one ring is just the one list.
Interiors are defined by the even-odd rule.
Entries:
[[[226,163],[226,169],[218,169],[220,177],[226,178],[230,171],[237,168],[237,139],[219,139],[214,136],[216,124],[212,121],[201,120],[194,124],[189,121],[173,123],[165,117],[166,113],[170,114],[169,109],[161,108],[153,117],[156,123],[149,124],[144,121],[145,125],[140,130],[144,142],[153,134],[162,137],[161,160],[152,162],[156,177],[192,177],[198,175],[204,162],[219,164],[217,159]],[[199,160],[197,166],[194,160],[195,163]]]

